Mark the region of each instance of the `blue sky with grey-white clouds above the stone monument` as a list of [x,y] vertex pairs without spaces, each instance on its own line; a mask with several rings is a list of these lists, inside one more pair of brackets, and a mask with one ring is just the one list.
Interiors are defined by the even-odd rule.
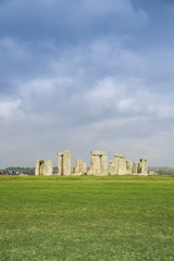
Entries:
[[174,166],[173,28],[172,0],[0,0],[0,167]]

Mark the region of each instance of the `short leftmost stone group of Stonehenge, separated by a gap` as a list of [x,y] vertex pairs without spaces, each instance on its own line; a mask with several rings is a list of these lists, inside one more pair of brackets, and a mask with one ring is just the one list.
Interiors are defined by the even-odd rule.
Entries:
[[51,176],[52,175],[52,162],[50,160],[37,160],[35,167],[35,175]]

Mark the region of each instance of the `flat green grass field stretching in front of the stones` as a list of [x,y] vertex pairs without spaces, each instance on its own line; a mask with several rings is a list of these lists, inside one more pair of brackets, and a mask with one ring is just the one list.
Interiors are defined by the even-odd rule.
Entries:
[[0,176],[0,261],[174,260],[174,177]]

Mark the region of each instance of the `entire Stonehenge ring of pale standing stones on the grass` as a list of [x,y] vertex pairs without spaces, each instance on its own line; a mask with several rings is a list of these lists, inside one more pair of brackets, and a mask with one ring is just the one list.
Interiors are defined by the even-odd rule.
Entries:
[[[113,160],[108,159],[104,150],[90,151],[90,167],[82,160],[77,159],[75,167],[72,165],[72,154],[70,150],[58,152],[58,173],[55,175],[148,175],[147,159],[141,158],[139,162],[132,163],[122,153],[114,153]],[[35,175],[52,175],[52,162],[50,160],[37,160]]]

